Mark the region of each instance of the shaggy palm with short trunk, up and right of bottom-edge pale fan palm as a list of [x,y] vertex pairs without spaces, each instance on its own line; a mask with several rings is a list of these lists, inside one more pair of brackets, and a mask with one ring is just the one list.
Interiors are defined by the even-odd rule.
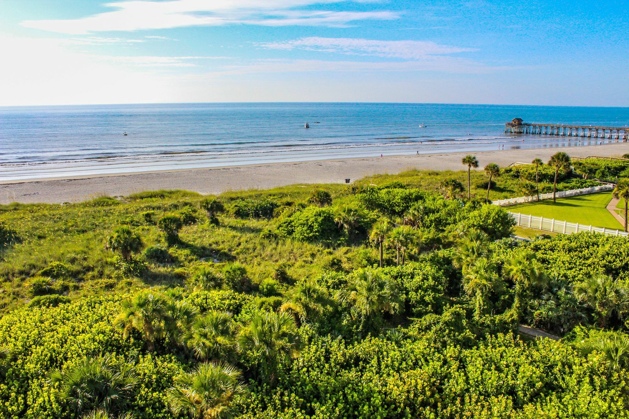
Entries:
[[262,359],[262,369],[273,384],[282,364],[299,356],[302,340],[294,318],[289,313],[262,312],[255,316],[237,338],[239,350],[252,350]]

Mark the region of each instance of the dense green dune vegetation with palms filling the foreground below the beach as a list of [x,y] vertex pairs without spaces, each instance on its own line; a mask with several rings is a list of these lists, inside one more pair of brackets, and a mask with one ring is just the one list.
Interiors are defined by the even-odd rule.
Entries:
[[0,206],[0,417],[625,417],[629,239],[511,240],[517,167]]

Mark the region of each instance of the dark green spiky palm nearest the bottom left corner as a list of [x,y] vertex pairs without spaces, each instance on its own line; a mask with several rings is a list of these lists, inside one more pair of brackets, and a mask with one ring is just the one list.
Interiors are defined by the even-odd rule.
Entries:
[[54,371],[48,382],[58,384],[59,395],[77,415],[98,409],[113,415],[129,405],[138,377],[132,367],[114,362],[108,354]]

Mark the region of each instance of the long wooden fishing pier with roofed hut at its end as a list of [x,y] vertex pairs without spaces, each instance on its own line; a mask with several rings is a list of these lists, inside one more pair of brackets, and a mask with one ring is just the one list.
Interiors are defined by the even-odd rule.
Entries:
[[563,124],[525,123],[514,118],[504,124],[505,134],[538,134],[555,135],[557,137],[610,138],[626,141],[629,139],[629,128],[618,126],[585,126]]

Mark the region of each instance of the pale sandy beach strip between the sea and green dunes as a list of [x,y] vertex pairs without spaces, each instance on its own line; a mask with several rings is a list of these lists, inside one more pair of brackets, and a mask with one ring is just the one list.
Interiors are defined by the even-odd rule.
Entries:
[[[477,152],[474,155],[481,164],[480,170],[491,162],[504,167],[513,162],[530,162],[536,157],[547,161],[558,151],[565,151],[575,157],[621,155],[629,153],[629,143],[572,148],[496,150]],[[124,196],[154,189],[186,189],[203,194],[216,194],[300,183],[340,183],[347,178],[354,181],[372,174],[396,174],[408,169],[463,170],[461,158],[465,154],[467,153],[325,160],[5,183],[0,184],[0,204],[77,202],[94,196]]]

